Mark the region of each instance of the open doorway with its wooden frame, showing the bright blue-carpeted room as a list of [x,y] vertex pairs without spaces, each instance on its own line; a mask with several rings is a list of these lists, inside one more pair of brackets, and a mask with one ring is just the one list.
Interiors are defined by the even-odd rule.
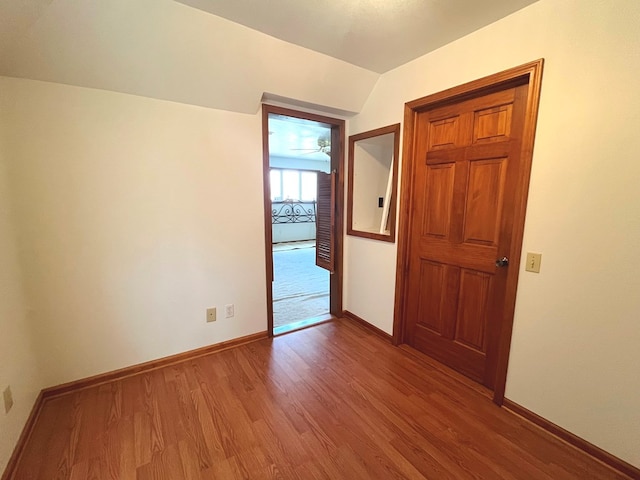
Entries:
[[[267,307],[272,335],[341,313],[343,148],[342,120],[263,106]],[[323,193],[327,191],[323,185],[330,185],[331,195]],[[330,239],[325,238],[328,230]]]

